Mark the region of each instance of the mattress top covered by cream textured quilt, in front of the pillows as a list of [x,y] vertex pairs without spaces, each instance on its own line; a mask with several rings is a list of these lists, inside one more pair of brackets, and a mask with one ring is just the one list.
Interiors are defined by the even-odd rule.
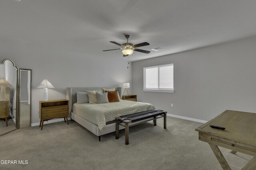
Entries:
[[77,104],[72,106],[72,112],[84,119],[98,125],[100,131],[106,125],[106,122],[115,120],[121,115],[128,115],[140,111],[155,109],[152,104],[120,100],[105,104]]

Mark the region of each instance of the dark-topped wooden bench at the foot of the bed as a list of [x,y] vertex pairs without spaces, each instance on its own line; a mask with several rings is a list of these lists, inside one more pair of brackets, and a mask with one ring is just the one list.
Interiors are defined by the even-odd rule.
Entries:
[[[133,113],[130,115],[116,117],[116,139],[119,139],[119,125],[125,127],[125,145],[129,145],[129,127],[131,126],[138,125],[140,123],[144,123],[146,121],[151,120],[154,120],[154,125],[156,126],[156,119],[164,117],[164,129],[166,129],[166,113],[167,112],[163,110],[147,110],[138,113]],[[137,121],[140,122],[129,125],[129,123],[134,123]]]

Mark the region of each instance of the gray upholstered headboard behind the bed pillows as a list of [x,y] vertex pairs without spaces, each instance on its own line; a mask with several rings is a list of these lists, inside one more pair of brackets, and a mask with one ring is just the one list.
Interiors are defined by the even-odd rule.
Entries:
[[[76,103],[76,92],[86,92],[87,90],[101,90],[102,88],[114,88],[114,87],[67,87],[66,89],[66,99],[69,100],[69,110],[68,113],[72,111],[72,105]],[[122,97],[121,87],[115,87],[118,90],[118,94]]]

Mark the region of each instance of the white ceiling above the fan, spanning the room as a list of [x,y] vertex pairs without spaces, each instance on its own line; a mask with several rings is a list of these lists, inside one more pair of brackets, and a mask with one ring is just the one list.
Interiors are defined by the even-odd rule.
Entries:
[[0,0],[0,41],[138,61],[256,35],[256,0]]

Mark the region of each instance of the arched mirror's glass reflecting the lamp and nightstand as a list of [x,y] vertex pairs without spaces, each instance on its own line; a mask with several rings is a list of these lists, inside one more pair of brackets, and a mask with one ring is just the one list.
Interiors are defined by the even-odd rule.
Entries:
[[4,59],[0,63],[0,136],[17,129],[18,67]]

